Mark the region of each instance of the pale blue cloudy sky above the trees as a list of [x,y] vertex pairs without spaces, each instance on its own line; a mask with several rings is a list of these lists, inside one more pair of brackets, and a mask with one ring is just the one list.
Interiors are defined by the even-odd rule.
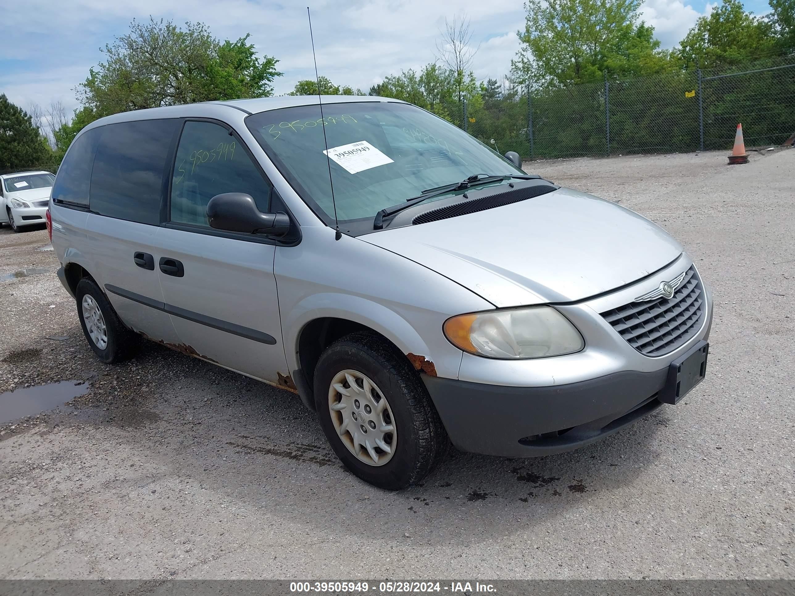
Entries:
[[[717,0],[713,0],[716,2]],[[232,40],[251,33],[258,52],[277,57],[285,75],[276,93],[312,78],[307,0],[2,0],[0,92],[23,107],[60,100],[77,106],[74,87],[102,59],[99,48],[125,33],[130,20],[156,18],[203,21],[215,37]],[[766,0],[747,0],[758,14]],[[522,0],[310,0],[320,74],[337,84],[367,90],[402,68],[421,68],[434,59],[444,17],[471,19],[478,79],[501,78],[518,49],[524,26]],[[664,47],[671,47],[701,14],[708,0],[646,0],[643,17]]]

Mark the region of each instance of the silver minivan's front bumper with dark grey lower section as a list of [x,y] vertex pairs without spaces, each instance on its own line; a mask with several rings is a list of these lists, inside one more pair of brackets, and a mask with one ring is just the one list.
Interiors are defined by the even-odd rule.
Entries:
[[[662,278],[689,265],[674,263]],[[644,284],[658,283],[652,278],[638,285],[645,290]],[[638,285],[557,307],[591,340],[577,354],[525,361],[464,354],[459,379],[423,375],[452,443],[460,451],[485,455],[553,455],[611,435],[663,405],[658,394],[665,388],[671,363],[709,338],[712,296],[705,289],[706,318],[697,335],[670,354],[650,358],[597,314],[611,300],[626,304],[626,296],[631,300],[642,294]],[[662,396],[666,399],[665,392]]]

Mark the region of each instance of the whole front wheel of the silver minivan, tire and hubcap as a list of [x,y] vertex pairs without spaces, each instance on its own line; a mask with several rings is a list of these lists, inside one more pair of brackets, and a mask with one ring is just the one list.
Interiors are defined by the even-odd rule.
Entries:
[[386,490],[420,482],[448,450],[448,436],[417,371],[369,333],[339,339],[315,370],[320,424],[353,474]]

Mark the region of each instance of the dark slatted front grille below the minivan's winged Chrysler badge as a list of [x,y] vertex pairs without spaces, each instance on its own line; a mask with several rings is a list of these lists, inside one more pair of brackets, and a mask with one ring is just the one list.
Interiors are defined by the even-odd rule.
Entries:
[[630,302],[602,316],[622,338],[646,356],[662,356],[684,346],[704,318],[704,288],[691,267],[669,299]]

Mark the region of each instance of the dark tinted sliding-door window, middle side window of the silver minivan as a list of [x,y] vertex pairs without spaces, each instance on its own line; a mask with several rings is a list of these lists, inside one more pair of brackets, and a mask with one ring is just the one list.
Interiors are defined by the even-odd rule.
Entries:
[[139,120],[103,126],[91,173],[91,211],[159,224],[169,148],[179,123]]

